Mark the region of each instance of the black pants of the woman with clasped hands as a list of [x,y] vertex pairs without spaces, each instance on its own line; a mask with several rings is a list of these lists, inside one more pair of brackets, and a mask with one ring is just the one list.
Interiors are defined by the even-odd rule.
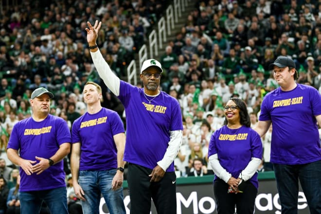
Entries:
[[228,193],[229,185],[224,180],[214,181],[214,196],[217,205],[217,214],[234,214],[235,205],[238,214],[253,214],[257,189],[246,181],[243,193]]

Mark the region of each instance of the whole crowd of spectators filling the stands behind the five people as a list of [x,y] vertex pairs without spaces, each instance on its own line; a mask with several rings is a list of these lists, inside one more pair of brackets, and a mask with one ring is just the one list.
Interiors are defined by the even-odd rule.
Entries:
[[[102,106],[124,107],[100,80],[86,40],[87,21],[102,21],[97,45],[120,78],[145,43],[170,0],[24,0],[0,14],[0,146],[13,125],[30,117],[31,92],[55,94],[51,113],[69,127],[86,111],[87,81],[102,86]],[[321,92],[321,0],[198,0],[186,24],[159,57],[161,89],[183,112],[183,144],[175,160],[178,176],[212,174],[208,145],[223,125],[222,107],[231,97],[248,105],[254,126],[264,95],[277,88],[268,65],[291,57],[298,83]],[[263,138],[260,171],[269,163],[271,130]],[[66,159],[66,173],[70,173]],[[14,167],[14,166],[13,166]],[[1,191],[2,193],[2,191]]]

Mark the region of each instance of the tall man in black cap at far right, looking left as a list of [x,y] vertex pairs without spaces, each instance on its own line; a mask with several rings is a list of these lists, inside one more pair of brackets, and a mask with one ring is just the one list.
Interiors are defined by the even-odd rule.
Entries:
[[286,56],[269,65],[279,88],[263,99],[254,129],[262,137],[273,124],[271,159],[282,214],[298,213],[300,180],[311,214],[321,214],[321,148],[317,122],[321,124],[321,94],[296,83],[298,71]]

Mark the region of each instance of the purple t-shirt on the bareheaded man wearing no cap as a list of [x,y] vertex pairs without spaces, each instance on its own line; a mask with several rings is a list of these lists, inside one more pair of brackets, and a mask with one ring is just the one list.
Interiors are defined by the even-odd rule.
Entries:
[[72,143],[81,143],[79,170],[103,171],[117,168],[117,148],[113,136],[124,133],[117,112],[102,108],[86,112],[72,124]]

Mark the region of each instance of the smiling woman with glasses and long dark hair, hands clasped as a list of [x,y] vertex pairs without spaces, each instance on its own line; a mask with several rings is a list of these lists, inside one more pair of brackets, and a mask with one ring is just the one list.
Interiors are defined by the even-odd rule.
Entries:
[[217,214],[234,214],[235,205],[237,213],[253,214],[262,142],[250,128],[244,101],[231,98],[224,107],[224,114],[224,125],[212,135],[208,153],[215,174]]

